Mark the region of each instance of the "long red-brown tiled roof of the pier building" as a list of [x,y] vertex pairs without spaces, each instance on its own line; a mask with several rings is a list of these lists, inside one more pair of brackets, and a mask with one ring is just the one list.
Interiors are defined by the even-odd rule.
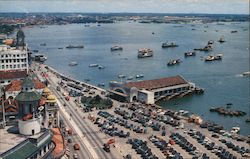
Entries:
[[180,84],[187,84],[188,82],[184,80],[181,76],[166,77],[154,80],[146,80],[139,82],[129,82],[124,84],[126,87],[136,87],[138,89],[153,90],[163,87],[170,87]]

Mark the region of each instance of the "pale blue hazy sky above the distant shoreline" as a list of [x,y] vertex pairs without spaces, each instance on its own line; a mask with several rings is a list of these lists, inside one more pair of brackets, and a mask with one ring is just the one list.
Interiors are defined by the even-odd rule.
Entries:
[[249,14],[250,0],[0,0],[0,12]]

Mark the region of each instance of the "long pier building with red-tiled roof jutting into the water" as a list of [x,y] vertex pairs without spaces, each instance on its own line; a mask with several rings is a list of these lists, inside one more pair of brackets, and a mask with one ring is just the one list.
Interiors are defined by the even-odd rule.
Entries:
[[140,101],[146,104],[154,104],[162,98],[184,96],[195,90],[195,84],[186,81],[181,76],[166,77],[154,80],[120,83],[111,81],[111,96],[123,101]]

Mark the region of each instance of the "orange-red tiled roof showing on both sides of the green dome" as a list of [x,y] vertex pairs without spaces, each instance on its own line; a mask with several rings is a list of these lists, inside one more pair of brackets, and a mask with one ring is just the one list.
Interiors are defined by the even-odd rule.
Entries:
[[[33,82],[35,84],[35,89],[44,89],[46,87],[45,84],[40,82],[39,80],[33,80]],[[21,89],[22,89],[21,80],[14,80],[5,87],[5,91],[21,91]]]

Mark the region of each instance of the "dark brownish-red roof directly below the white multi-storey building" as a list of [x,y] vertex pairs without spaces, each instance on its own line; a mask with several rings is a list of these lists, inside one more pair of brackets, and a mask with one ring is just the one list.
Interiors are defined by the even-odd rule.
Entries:
[[26,71],[0,71],[0,80],[25,78]]

